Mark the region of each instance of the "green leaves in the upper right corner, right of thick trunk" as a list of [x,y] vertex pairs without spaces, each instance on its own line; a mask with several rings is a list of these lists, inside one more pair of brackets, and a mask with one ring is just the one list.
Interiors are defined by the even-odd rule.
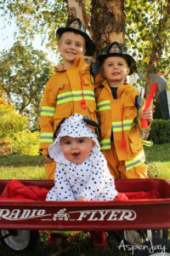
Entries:
[[138,70],[147,72],[153,49],[156,63],[152,63],[168,79],[170,61],[170,23],[168,1],[127,0],[125,26],[127,48],[137,60]]

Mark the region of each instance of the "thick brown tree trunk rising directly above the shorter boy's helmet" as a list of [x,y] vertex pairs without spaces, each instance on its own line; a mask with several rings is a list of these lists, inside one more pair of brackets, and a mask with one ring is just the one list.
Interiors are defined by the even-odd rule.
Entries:
[[124,23],[124,0],[92,0],[91,26],[97,55],[114,41],[125,46]]

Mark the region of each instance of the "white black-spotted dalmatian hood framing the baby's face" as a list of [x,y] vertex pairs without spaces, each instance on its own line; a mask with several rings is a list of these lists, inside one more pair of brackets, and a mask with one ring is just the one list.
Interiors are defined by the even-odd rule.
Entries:
[[69,164],[70,161],[65,159],[65,156],[61,149],[60,139],[61,137],[89,137],[91,138],[95,146],[92,148],[93,153],[99,153],[100,147],[94,131],[87,123],[84,122],[83,116],[79,113],[75,113],[70,118],[65,119],[65,122],[60,125],[60,131],[55,139],[54,143],[48,148],[49,155],[54,161],[63,164]]

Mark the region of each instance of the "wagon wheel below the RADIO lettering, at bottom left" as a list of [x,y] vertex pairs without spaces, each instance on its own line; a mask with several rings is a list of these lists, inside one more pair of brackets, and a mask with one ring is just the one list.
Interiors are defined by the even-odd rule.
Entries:
[[1,235],[3,244],[18,252],[33,249],[39,239],[37,230],[1,230]]

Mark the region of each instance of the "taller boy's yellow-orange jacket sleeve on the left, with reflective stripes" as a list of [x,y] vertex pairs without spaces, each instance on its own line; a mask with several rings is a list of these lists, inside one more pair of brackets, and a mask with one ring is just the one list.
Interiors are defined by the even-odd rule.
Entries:
[[[48,149],[48,146],[54,142],[54,113],[56,108],[56,79],[55,75],[48,80],[42,99],[42,110],[40,117],[41,137],[40,151]],[[44,152],[47,152],[43,150]]]

